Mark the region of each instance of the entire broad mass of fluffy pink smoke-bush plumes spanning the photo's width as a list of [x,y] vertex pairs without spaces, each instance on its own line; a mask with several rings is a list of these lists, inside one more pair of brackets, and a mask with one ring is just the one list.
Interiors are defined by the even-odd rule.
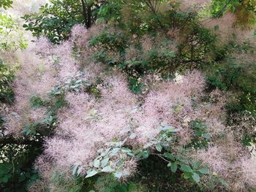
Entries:
[[[206,81],[203,74],[193,71],[181,76],[178,82],[154,82],[150,91],[143,96],[136,96],[129,91],[127,77],[121,72],[105,73],[103,67],[94,64],[89,58],[76,59],[73,47],[86,47],[90,32],[83,26],[75,26],[72,37],[61,45],[52,45],[47,39],[39,39],[37,54],[28,50],[20,58],[21,70],[15,81],[17,95],[16,115],[11,117],[10,131],[15,125],[24,125],[23,121],[37,121],[44,115],[45,109],[33,110],[29,100],[31,96],[45,96],[55,85],[72,79],[80,70],[85,80],[102,77],[102,84],[97,85],[101,97],[95,98],[89,93],[65,93],[69,107],[59,111],[59,124],[55,135],[45,140],[45,152],[37,159],[36,168],[44,181],[51,185],[51,174],[56,170],[68,173],[75,164],[89,168],[89,163],[97,155],[97,149],[106,142],[124,139],[128,132],[136,134],[129,142],[134,147],[146,145],[159,134],[159,126],[164,123],[178,130],[178,146],[187,145],[194,137],[189,123],[200,119],[208,126],[211,134],[211,147],[188,154],[207,164],[213,172],[227,179],[227,183],[236,188],[233,178],[241,183],[242,191],[248,185],[255,185],[255,161],[241,151],[244,149],[227,132],[225,125],[224,93],[215,91],[208,96],[210,101],[202,101]],[[28,56],[30,54],[30,57]],[[85,60],[88,60],[88,64]],[[109,75],[110,74],[110,75]],[[22,122],[20,122],[22,120]],[[223,139],[219,134],[228,135]],[[136,161],[129,159],[125,167],[135,171]],[[231,169],[236,167],[236,169]],[[236,177],[236,172],[241,174]]]

